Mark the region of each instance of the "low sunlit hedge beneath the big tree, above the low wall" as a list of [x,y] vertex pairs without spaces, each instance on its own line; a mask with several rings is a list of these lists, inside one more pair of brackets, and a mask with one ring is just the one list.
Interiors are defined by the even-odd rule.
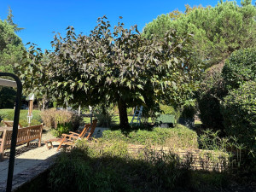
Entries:
[[151,143],[171,148],[198,148],[197,134],[183,125],[174,128],[153,128],[151,131],[137,130],[127,133],[122,131],[103,131],[102,140],[125,141],[133,144]]

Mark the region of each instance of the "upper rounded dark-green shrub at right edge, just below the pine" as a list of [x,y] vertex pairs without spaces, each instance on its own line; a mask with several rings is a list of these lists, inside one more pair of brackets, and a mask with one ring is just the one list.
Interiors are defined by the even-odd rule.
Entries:
[[256,48],[239,49],[230,55],[223,68],[228,90],[237,89],[249,80],[256,80]]

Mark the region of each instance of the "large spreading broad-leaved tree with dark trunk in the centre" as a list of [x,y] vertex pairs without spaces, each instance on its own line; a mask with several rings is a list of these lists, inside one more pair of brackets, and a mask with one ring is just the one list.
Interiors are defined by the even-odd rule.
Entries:
[[[61,102],[81,105],[117,103],[120,126],[128,126],[126,108],[154,107],[158,100],[182,102],[192,91],[197,65],[189,65],[189,36],[168,32],[163,41],[143,38],[137,26],[111,26],[106,17],[89,36],[55,36],[53,52],[42,53],[32,45],[30,61],[19,66],[26,89],[47,89]],[[48,61],[42,61],[47,55]],[[39,84],[39,85],[38,85]]]

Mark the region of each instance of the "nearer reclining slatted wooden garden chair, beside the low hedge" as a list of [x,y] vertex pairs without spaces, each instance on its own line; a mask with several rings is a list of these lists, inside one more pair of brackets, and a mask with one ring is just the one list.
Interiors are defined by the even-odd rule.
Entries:
[[85,125],[84,130],[81,131],[80,133],[70,131],[69,132],[70,134],[62,134],[63,138],[60,141],[57,141],[57,142],[60,142],[60,145],[57,148],[57,151],[61,148],[63,144],[73,145],[78,139],[84,138],[86,134],[87,136],[85,138],[89,139],[96,129],[96,124],[97,124],[97,119],[94,119],[92,121],[92,125],[91,126],[90,124]]

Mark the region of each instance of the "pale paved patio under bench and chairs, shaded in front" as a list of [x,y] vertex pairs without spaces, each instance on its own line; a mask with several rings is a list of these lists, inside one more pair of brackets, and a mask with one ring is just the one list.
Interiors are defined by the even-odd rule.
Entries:
[[[83,129],[83,127],[80,127]],[[106,128],[96,128],[93,137],[102,137],[102,131],[108,130]],[[53,165],[56,151],[59,143],[53,143],[54,148],[48,150],[44,145],[44,141],[53,138],[51,133],[48,131],[43,133],[42,136],[42,147],[38,148],[38,143],[33,142],[30,147],[21,145],[16,148],[15,155],[15,170],[13,178],[13,190],[18,189],[24,183],[31,181],[38,174],[44,172],[49,166]],[[9,150],[5,150],[5,159],[0,162],[0,192],[5,191],[8,166],[9,166]]]

